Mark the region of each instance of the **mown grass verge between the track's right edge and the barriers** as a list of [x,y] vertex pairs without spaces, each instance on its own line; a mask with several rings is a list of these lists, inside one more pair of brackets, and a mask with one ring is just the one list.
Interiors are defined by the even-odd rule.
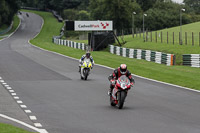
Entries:
[[[50,13],[35,13],[41,15],[45,22],[41,33],[35,39],[31,40],[32,44],[77,59],[79,59],[82,54],[85,53],[79,49],[53,44],[51,42],[51,38],[53,35],[59,34],[62,23],[58,23]],[[133,74],[200,90],[199,68],[191,68],[186,66],[165,66],[145,60],[124,58],[110,54],[107,51],[95,51],[92,52],[92,56],[97,64],[116,68],[121,63],[126,63],[128,65],[128,69]]]

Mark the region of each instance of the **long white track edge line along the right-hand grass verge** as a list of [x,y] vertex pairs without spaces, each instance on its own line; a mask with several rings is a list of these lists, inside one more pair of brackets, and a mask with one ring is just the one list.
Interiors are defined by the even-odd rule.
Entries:
[[[42,17],[41,17],[41,18],[42,18]],[[43,18],[42,18],[42,26],[41,26],[40,32],[42,31],[43,24],[44,24],[44,20],[43,20]],[[40,33],[40,32],[39,32],[39,33]],[[38,33],[38,34],[39,34],[39,33]],[[38,35],[38,34],[37,34],[37,35]],[[37,35],[36,35],[36,36],[37,36]],[[35,37],[36,37],[36,36],[35,36]],[[34,37],[34,38],[35,38],[35,37]],[[32,38],[32,39],[34,39],[34,38]],[[70,56],[66,56],[66,55],[63,55],[63,54],[60,54],[60,53],[56,53],[56,52],[54,52],[54,51],[49,51],[49,50],[40,48],[40,47],[38,47],[38,46],[35,46],[35,45],[33,45],[32,43],[30,43],[30,40],[28,40],[28,43],[29,43],[30,45],[36,47],[36,48],[39,48],[39,49],[43,50],[43,51],[47,51],[47,52],[50,52],[50,53],[54,53],[54,54],[57,54],[57,55],[60,55],[60,56],[63,56],[63,57],[70,58],[70,59],[78,60],[78,59],[73,58],[73,57],[70,57]],[[101,65],[101,64],[95,64],[95,65],[114,70],[114,68],[111,68],[111,67],[108,67],[108,66],[104,66],[104,65]],[[199,92],[199,93],[200,93],[200,90],[195,90],[195,89],[192,89],[192,88],[187,88],[187,87],[183,87],[183,86],[179,86],[179,85],[175,85],[175,84],[171,84],[171,83],[167,83],[167,82],[163,82],[163,81],[158,81],[158,80],[155,80],[155,79],[150,79],[150,78],[142,77],[142,76],[139,76],[139,75],[136,75],[136,74],[132,74],[132,75],[135,76],[135,77],[138,77],[138,78],[142,78],[142,79],[149,80],[149,81],[153,81],[153,82],[157,82],[157,83],[161,83],[161,84],[165,84],[165,85],[170,85],[170,86],[173,86],[173,87],[178,87],[178,88],[182,88],[182,89],[185,89],[185,90],[190,90],[190,91],[193,91],[193,92]]]

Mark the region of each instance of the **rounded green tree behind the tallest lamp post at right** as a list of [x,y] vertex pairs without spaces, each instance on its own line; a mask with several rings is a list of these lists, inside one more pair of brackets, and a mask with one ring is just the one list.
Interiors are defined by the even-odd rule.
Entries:
[[[146,13],[145,25],[150,30],[159,30],[180,25],[180,9],[181,5],[172,2],[156,2],[153,8]],[[190,23],[190,18],[183,13],[183,24]]]

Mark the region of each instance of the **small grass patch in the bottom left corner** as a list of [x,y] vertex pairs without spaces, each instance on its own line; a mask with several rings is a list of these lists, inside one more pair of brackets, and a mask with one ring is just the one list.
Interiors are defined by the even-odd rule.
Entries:
[[32,133],[32,132],[28,132],[23,129],[20,129],[8,124],[3,124],[3,123],[0,123],[0,132],[1,133]]

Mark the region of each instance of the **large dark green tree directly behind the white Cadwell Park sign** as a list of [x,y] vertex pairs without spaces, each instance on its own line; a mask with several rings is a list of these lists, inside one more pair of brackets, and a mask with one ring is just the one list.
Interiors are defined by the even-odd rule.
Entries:
[[90,0],[91,17],[95,20],[113,20],[115,29],[131,27],[133,11],[141,12],[140,6],[130,0]]

